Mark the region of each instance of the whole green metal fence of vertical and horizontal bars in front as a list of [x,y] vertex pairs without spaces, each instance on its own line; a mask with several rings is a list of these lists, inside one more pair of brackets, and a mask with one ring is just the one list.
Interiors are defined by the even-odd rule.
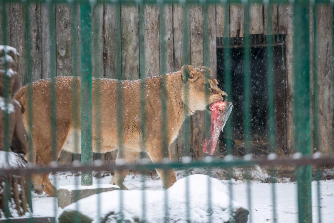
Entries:
[[[8,3],[23,3],[23,1],[16,1],[16,0],[1,0],[2,6]],[[320,198],[320,174],[318,171],[317,174],[317,201],[316,204],[317,210],[312,210],[311,207],[311,165],[315,165],[316,167],[319,167],[323,164],[328,163],[334,163],[334,157],[326,157],[326,158],[312,158],[311,157],[311,115],[310,115],[310,102],[313,100],[314,103],[314,126],[315,126],[315,148],[319,148],[319,129],[318,129],[318,106],[317,106],[317,71],[314,68],[314,77],[313,77],[313,84],[314,84],[314,98],[311,98],[310,95],[310,63],[309,63],[309,57],[310,57],[310,49],[313,47],[314,52],[314,58],[315,58],[315,64],[316,64],[316,44],[313,46],[310,45],[309,38],[310,38],[310,32],[309,32],[309,13],[310,13],[310,6],[313,8],[313,19],[316,20],[317,16],[317,5],[318,4],[324,4],[324,3],[330,3],[327,0],[321,0],[321,1],[294,1],[291,2],[290,0],[268,0],[268,1],[260,1],[260,0],[249,0],[249,1],[238,1],[238,0],[229,0],[229,1],[218,1],[218,0],[203,0],[203,1],[197,1],[197,0],[96,0],[96,1],[87,1],[87,0],[71,0],[71,1],[62,1],[62,0],[26,0],[24,1],[24,4],[26,5],[26,8],[32,3],[43,3],[48,5],[48,16],[49,16],[49,38],[50,38],[50,61],[48,62],[50,64],[50,77],[51,77],[51,87],[50,87],[50,103],[51,103],[51,113],[50,117],[52,120],[51,125],[51,135],[52,135],[52,157],[53,160],[57,159],[57,124],[56,123],[56,89],[55,89],[55,77],[56,75],[56,45],[55,45],[55,5],[59,3],[66,3],[71,5],[71,9],[73,11],[74,8],[80,4],[80,33],[81,33],[81,42],[80,42],[80,58],[81,58],[81,71],[76,71],[73,76],[80,74],[80,83],[79,79],[75,79],[73,84],[73,122],[74,127],[80,126],[81,128],[81,165],[71,165],[71,166],[57,166],[54,163],[52,165],[47,166],[29,166],[26,169],[1,169],[0,175],[10,175],[10,174],[18,174],[18,175],[27,175],[31,176],[32,174],[40,174],[40,173],[48,173],[48,172],[62,172],[62,171],[74,171],[74,172],[82,172],[82,178],[81,183],[82,185],[92,185],[92,171],[108,171],[108,170],[128,170],[128,169],[138,169],[138,170],[154,170],[154,169],[163,169],[168,170],[171,168],[182,168],[182,169],[189,169],[194,167],[205,167],[208,168],[208,175],[210,175],[210,168],[212,167],[221,167],[221,168],[228,168],[230,171],[231,167],[250,167],[254,165],[266,165],[271,166],[271,185],[272,185],[272,204],[273,204],[273,222],[276,222],[276,216],[277,214],[277,200],[276,200],[276,171],[275,167],[277,165],[295,165],[296,166],[296,179],[298,183],[298,216],[299,216],[299,222],[312,222],[312,212],[317,211],[318,212],[318,222],[322,222],[322,215],[321,215],[321,198]],[[229,156],[227,158],[230,159],[210,159],[209,156],[207,156],[204,160],[196,160],[196,161],[184,161],[184,162],[157,162],[157,163],[121,163],[121,164],[101,164],[100,162],[93,162],[93,149],[92,149],[92,138],[93,138],[93,120],[97,120],[97,123],[101,123],[100,119],[100,84],[99,79],[96,79],[94,88],[92,88],[92,72],[93,72],[93,66],[92,66],[92,58],[94,58],[94,55],[96,55],[97,51],[94,51],[97,49],[97,47],[92,47],[92,44],[99,44],[98,42],[92,41],[92,35],[96,35],[95,29],[92,29],[92,9],[96,7],[98,4],[113,4],[115,6],[115,24],[116,24],[116,33],[115,33],[115,41],[116,41],[116,52],[117,55],[116,58],[116,74],[119,80],[122,79],[122,49],[121,49],[121,5],[123,4],[135,4],[139,7],[139,70],[140,70],[140,78],[141,78],[141,84],[140,84],[140,92],[138,92],[138,95],[140,95],[140,117],[141,117],[141,128],[145,129],[145,104],[146,104],[146,97],[145,97],[145,77],[146,77],[146,70],[145,70],[145,51],[144,51],[144,6],[145,4],[156,4],[159,6],[160,11],[164,10],[164,7],[166,4],[180,4],[182,5],[183,9],[183,27],[182,27],[182,33],[183,33],[183,64],[190,64],[190,58],[189,58],[189,49],[185,46],[189,45],[189,39],[187,36],[190,35],[190,29],[189,29],[189,8],[192,4],[200,4],[202,6],[202,14],[203,14],[203,33],[208,33],[208,17],[209,17],[209,11],[208,6],[209,4],[222,4],[225,6],[228,6],[232,3],[240,3],[244,7],[244,38],[243,38],[243,49],[244,49],[244,55],[243,55],[243,70],[244,70],[244,78],[243,83],[240,83],[243,85],[243,97],[244,97],[244,141],[245,141],[245,147],[246,147],[246,153],[250,153],[250,140],[251,140],[251,114],[250,110],[247,108],[250,108],[251,106],[251,55],[250,55],[250,48],[251,44],[247,44],[250,42],[249,38],[249,21],[250,21],[250,7],[254,3],[260,3],[264,4],[269,9],[271,8],[271,5],[273,3],[289,3],[293,4],[294,8],[294,35],[293,35],[293,49],[294,49],[294,126],[295,126],[295,151],[300,152],[301,156],[298,158],[275,158],[275,159],[267,159],[267,158],[260,158],[260,159],[235,159],[232,156],[232,144],[226,143],[226,150]],[[225,7],[226,13],[225,13],[225,36],[229,36],[229,7]],[[73,13],[72,21],[75,19]],[[268,33],[272,33],[272,16],[271,16],[271,10],[268,10]],[[4,45],[8,45],[8,37],[6,36],[6,30],[7,27],[7,19],[8,15],[6,13],[5,7],[2,7],[2,33],[3,33],[3,39],[2,43]],[[30,22],[29,22],[29,11],[26,10],[26,19],[27,19],[27,26],[26,31],[29,33]],[[329,18],[331,19],[331,18]],[[165,15],[164,13],[160,13],[159,16],[159,32],[165,33]],[[74,24],[74,23],[73,23]],[[316,22],[313,22],[314,25],[316,25]],[[314,27],[314,30],[316,30],[316,27]],[[79,30],[74,25],[72,29],[72,37],[77,35]],[[316,38],[316,31],[314,31],[314,38]],[[75,38],[73,38],[75,39]],[[166,71],[166,44],[165,39],[163,35],[160,35],[159,39],[159,45],[160,45],[160,75],[167,73]],[[30,55],[30,50],[32,49],[31,46],[31,36],[27,35],[27,55]],[[316,40],[314,41],[316,42]],[[271,153],[275,153],[275,101],[274,101],[274,72],[273,72],[273,39],[268,38],[267,39],[267,70],[268,70],[268,80],[267,80],[267,87],[268,87],[268,101],[264,102],[268,105],[268,135],[269,135],[269,151]],[[148,44],[148,43],[146,43]],[[210,65],[210,55],[209,55],[209,36],[207,34],[203,35],[203,65],[209,67]],[[224,45],[230,45],[229,38],[224,38]],[[72,49],[77,49],[78,45],[75,43],[71,45]],[[93,50],[92,50],[93,48]],[[75,53],[77,50],[72,50],[73,53]],[[79,55],[72,55],[72,57],[78,57]],[[27,57],[27,80],[28,80],[28,126],[30,129],[34,129],[33,123],[36,120],[33,120],[33,89],[32,89],[32,63],[30,61],[30,57]],[[77,61],[77,60],[73,60]],[[77,63],[77,62],[75,62]],[[225,83],[225,89],[228,94],[232,91],[231,90],[231,59],[230,59],[230,48],[226,47],[224,49],[224,83]],[[74,66],[75,67],[75,66]],[[315,66],[314,66],[315,67]],[[189,75],[189,74],[188,74]],[[208,75],[208,74],[206,74]],[[6,77],[6,76],[5,76]],[[187,77],[188,78],[188,77]],[[163,82],[165,82],[165,76],[163,76],[162,79]],[[6,82],[5,82],[6,83]],[[77,90],[80,89],[80,95],[77,95]],[[117,82],[117,102],[118,102],[118,109],[117,109],[117,120],[118,120],[118,144],[119,146],[119,156],[122,157],[122,151],[123,151],[123,92],[122,92],[122,82]],[[6,93],[8,89],[5,88],[5,98],[9,98],[10,95]],[[188,94],[188,89],[184,89],[185,94]],[[161,91],[161,110],[162,110],[162,145],[163,145],[163,153],[164,157],[168,154],[168,144],[167,144],[167,105],[166,105],[166,88],[165,85],[162,84],[162,91]],[[78,100],[78,97],[80,96],[80,101]],[[93,98],[95,101],[95,107],[93,107]],[[186,97],[187,98],[187,97]],[[8,102],[8,100],[7,100]],[[186,102],[187,103],[187,102]],[[80,106],[80,107],[79,107]],[[78,111],[80,110],[80,115],[78,115]],[[232,112],[233,114],[233,112]],[[95,117],[94,117],[95,115]],[[80,116],[80,121],[78,119],[78,116]],[[231,118],[233,118],[233,115],[231,115]],[[208,130],[210,123],[208,120],[210,120],[209,113],[205,113],[205,127]],[[79,123],[80,122],[80,123]],[[5,116],[5,123],[7,126],[5,134],[6,138],[8,138],[9,130],[9,117],[8,115]],[[184,131],[181,132],[181,134],[184,134],[185,138],[185,147],[184,147],[184,154],[186,156],[189,156],[190,154],[190,120],[185,119],[184,123]],[[101,134],[101,125],[96,125],[97,130],[97,137]],[[227,121],[226,126],[224,128],[226,138],[232,137],[232,128],[231,128],[231,120]],[[146,149],[146,131],[143,130],[142,132],[142,143],[141,148],[142,151],[145,151]],[[31,134],[31,133],[30,133]],[[31,138],[31,135],[28,134],[28,138]],[[78,149],[78,142],[79,139],[76,136],[75,137],[76,142],[76,149]],[[29,149],[31,150],[33,148],[33,142],[32,140],[28,140]],[[97,143],[96,145],[98,148],[101,148],[101,144]],[[10,142],[7,141],[5,144],[5,150],[9,150],[10,148]],[[33,159],[33,153],[30,151],[28,153],[28,157],[30,160]],[[231,158],[232,157],[232,158]],[[249,156],[247,156],[249,158]],[[187,160],[187,159],[184,159]],[[229,172],[228,178],[230,180],[230,183],[228,184],[229,189],[229,208],[232,213],[232,198],[233,198],[233,186],[231,184],[231,172]],[[247,198],[248,198],[248,210],[249,210],[249,216],[248,216],[248,222],[254,222],[252,217],[252,187],[249,183],[250,181],[250,175],[249,172],[247,172]],[[57,179],[54,179],[55,186],[57,185]],[[78,182],[77,182],[78,183]],[[143,177],[143,188],[145,185],[145,177]],[[210,185],[210,182],[208,182],[208,185]],[[189,184],[188,184],[189,186]],[[185,190],[188,190],[188,188],[185,188]],[[168,191],[165,192],[165,221],[168,222]],[[189,194],[188,194],[189,196]],[[143,197],[145,197],[145,191],[143,191]],[[122,193],[120,193],[120,198],[116,199],[113,202],[117,202],[120,205],[120,210],[122,212]],[[210,204],[210,190],[208,192],[208,204]],[[145,199],[144,199],[145,201]],[[31,204],[30,204],[31,205]],[[187,207],[187,213],[188,213],[188,222],[190,222],[190,212],[189,212],[189,197],[187,197],[187,200],[185,202],[185,205]],[[142,222],[145,222],[145,203],[143,203],[143,215],[141,216]],[[97,208],[97,211],[100,209],[100,204]],[[211,207],[208,207],[208,212],[211,211]],[[54,204],[54,212],[57,213],[57,204]],[[31,215],[32,216],[32,215]],[[123,216],[121,214],[121,216]],[[121,222],[123,219],[120,220]],[[207,220],[208,222],[211,222],[212,219],[210,217]],[[8,222],[10,220],[8,219]],[[33,219],[31,218],[30,222],[33,222]],[[77,222],[79,221],[79,218],[77,218]]]

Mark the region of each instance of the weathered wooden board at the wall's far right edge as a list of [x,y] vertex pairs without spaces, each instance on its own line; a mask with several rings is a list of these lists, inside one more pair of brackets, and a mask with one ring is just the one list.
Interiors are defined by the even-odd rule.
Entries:
[[333,67],[333,8],[318,5],[317,12],[317,75],[318,75],[318,120],[319,149],[333,153],[334,131],[334,67]]

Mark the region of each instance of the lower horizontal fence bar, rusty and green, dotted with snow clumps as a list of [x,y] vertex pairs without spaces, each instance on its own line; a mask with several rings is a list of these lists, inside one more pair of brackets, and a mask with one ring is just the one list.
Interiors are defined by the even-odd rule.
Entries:
[[87,164],[87,165],[72,165],[72,166],[58,166],[56,162],[53,162],[48,166],[30,166],[25,169],[1,169],[1,175],[31,175],[50,172],[79,172],[79,171],[110,171],[110,170],[154,170],[154,169],[178,169],[178,168],[199,168],[199,167],[220,167],[230,168],[234,167],[248,167],[254,165],[260,166],[277,166],[277,165],[315,165],[320,166],[324,164],[334,164],[334,156],[324,158],[278,158],[278,159],[235,159],[235,160],[212,160],[212,161],[194,161],[194,162],[163,162],[163,163],[124,163],[124,164]]

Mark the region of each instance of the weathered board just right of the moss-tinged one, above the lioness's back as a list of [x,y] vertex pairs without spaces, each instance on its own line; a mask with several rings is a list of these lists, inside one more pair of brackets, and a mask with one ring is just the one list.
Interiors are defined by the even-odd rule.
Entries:
[[159,7],[146,5],[145,22],[145,70],[146,77],[159,75]]

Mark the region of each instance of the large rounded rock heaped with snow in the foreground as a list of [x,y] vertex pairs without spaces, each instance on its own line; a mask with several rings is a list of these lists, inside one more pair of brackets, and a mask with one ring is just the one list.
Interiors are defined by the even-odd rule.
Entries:
[[[68,205],[59,213],[59,223],[68,222],[73,219],[77,208],[81,220],[85,222],[113,223],[121,220],[123,222],[140,222],[143,216],[143,195],[145,195],[145,220],[147,223],[164,222],[165,197],[168,197],[168,222],[187,222],[186,210],[186,185],[189,185],[189,216],[190,222],[247,222],[248,211],[241,207],[236,201],[232,201],[233,214],[230,215],[229,196],[227,187],[215,178],[207,175],[190,175],[178,180],[168,190],[161,191],[111,191],[93,195]],[[211,188],[211,214],[208,205],[208,184]],[[123,197],[123,208],[120,212],[120,196]],[[98,205],[101,202],[101,205]],[[100,211],[98,208],[100,207]],[[66,220],[65,220],[66,219]],[[81,221],[82,222],[82,221]]]

